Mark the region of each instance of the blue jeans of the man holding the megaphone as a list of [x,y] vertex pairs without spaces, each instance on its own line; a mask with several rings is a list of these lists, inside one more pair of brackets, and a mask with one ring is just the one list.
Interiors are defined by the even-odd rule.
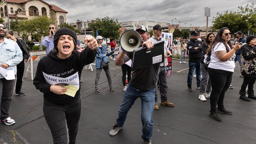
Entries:
[[151,139],[153,134],[152,114],[155,104],[155,92],[152,90],[141,90],[128,85],[124,92],[123,103],[118,110],[116,124],[123,127],[128,111],[132,108],[137,98],[141,99],[141,122],[142,122],[142,139]]

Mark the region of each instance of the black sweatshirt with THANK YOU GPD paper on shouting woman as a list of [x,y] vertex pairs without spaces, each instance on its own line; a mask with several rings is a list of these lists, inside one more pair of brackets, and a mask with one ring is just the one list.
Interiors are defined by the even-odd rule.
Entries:
[[[82,52],[72,52],[67,59],[59,59],[52,51],[43,57],[37,65],[34,85],[44,93],[44,104],[70,105],[80,100],[80,82],[82,69],[95,60],[96,52],[85,48]],[[49,84],[47,81],[50,81]],[[61,81],[60,81],[61,80]],[[54,94],[51,85],[74,85],[79,87],[75,97]]]

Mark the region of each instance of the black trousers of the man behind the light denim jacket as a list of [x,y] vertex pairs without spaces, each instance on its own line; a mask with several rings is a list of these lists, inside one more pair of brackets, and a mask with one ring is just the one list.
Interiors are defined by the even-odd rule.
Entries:
[[22,86],[22,77],[24,74],[24,68],[25,68],[25,63],[24,60],[22,60],[19,64],[16,65],[17,66],[17,80],[16,80],[16,88],[15,88],[15,92],[20,92],[21,90],[21,86]]

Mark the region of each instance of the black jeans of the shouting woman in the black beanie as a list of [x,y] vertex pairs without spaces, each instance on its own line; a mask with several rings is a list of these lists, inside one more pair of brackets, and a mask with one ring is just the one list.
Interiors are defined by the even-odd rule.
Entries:
[[[47,102],[48,103],[48,102]],[[77,104],[60,106],[55,104],[45,104],[43,107],[44,118],[52,133],[54,144],[76,143],[78,132],[78,122],[81,115],[81,100]],[[68,126],[68,135],[66,128]]]

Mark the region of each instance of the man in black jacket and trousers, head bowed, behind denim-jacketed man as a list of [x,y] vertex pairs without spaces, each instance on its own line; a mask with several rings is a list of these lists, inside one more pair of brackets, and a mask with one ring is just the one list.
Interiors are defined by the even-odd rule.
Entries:
[[16,87],[15,87],[15,95],[20,95],[20,96],[24,96],[26,95],[26,93],[20,92],[21,90],[21,86],[22,86],[22,77],[24,74],[24,69],[25,69],[25,62],[28,61],[29,58],[29,49],[26,45],[26,43],[22,40],[22,39],[17,39],[15,38],[14,34],[12,31],[8,31],[6,32],[6,38],[14,40],[20,47],[21,51],[22,51],[22,56],[23,56],[23,60],[17,64],[17,80],[16,80]]

